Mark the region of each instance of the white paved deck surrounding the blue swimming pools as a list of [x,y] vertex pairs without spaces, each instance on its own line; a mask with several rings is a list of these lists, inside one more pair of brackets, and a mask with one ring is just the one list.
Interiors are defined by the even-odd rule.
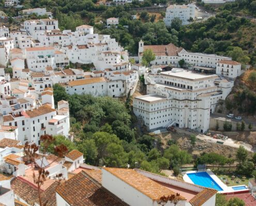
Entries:
[[[218,193],[232,193],[234,192],[232,187],[235,186],[227,186],[225,185],[211,170],[207,169],[205,171],[187,171],[186,174],[183,176],[183,179],[185,182],[189,182],[189,183],[193,183],[193,181],[188,177],[187,174],[190,173],[202,173],[202,172],[206,172],[221,188],[223,191],[218,191]],[[246,186],[246,185],[237,185],[237,186]],[[210,187],[209,187],[210,188]],[[240,191],[247,191],[247,189],[245,190],[240,190]]]

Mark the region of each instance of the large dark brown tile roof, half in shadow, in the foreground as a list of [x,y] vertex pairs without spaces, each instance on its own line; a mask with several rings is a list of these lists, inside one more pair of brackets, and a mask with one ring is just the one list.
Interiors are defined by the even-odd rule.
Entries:
[[[121,199],[107,191],[99,182],[81,171],[57,186],[55,190],[68,204],[76,206],[126,206]],[[74,198],[76,197],[76,198]]]

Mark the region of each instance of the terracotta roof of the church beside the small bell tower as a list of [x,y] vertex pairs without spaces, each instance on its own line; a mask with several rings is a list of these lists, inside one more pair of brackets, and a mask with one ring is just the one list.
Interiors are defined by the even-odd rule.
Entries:
[[170,43],[168,45],[144,45],[144,50],[152,49],[156,56],[178,56],[181,47],[177,47]]

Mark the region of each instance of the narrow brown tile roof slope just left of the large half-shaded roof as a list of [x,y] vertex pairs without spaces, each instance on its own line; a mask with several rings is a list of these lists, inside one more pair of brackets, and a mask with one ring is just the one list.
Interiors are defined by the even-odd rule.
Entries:
[[[55,192],[55,189],[57,186],[59,186],[61,184],[61,182],[57,182],[55,181],[51,186],[49,186],[47,188],[46,191],[44,191],[42,194],[41,194],[41,199],[42,199],[42,203],[47,203],[46,205],[49,205],[49,206],[56,206],[57,203],[56,203],[56,192]],[[35,201],[36,203],[39,204],[39,199],[37,199]]]

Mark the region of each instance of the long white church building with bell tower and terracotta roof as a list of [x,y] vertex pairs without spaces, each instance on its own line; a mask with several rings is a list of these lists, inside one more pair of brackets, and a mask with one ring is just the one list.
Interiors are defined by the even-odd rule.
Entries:
[[206,66],[216,68],[216,63],[220,60],[231,60],[230,57],[218,56],[215,54],[192,53],[187,52],[182,47],[177,47],[170,43],[168,45],[144,45],[143,41],[139,42],[139,60],[142,61],[143,52],[146,49],[151,49],[156,58],[150,64],[152,65],[171,65],[179,66],[179,60],[184,60],[185,63],[191,66]]

